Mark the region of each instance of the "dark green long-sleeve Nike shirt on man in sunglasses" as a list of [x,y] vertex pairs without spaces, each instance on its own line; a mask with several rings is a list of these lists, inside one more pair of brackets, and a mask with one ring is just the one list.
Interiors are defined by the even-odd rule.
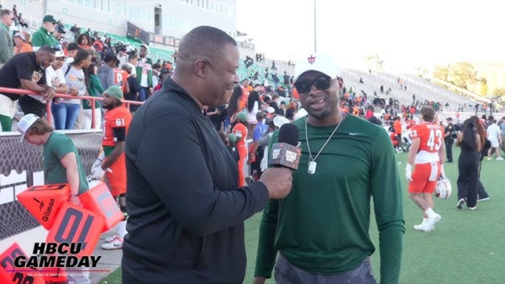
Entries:
[[[255,275],[271,277],[277,252],[311,273],[340,274],[357,268],[375,251],[368,233],[373,197],[381,283],[397,283],[405,219],[389,136],[381,127],[348,115],[311,175],[305,120],[294,122],[302,156],[293,171],[291,192],[281,201],[269,201],[263,211]],[[334,129],[309,125],[313,157]],[[277,136],[275,132],[271,144]]]

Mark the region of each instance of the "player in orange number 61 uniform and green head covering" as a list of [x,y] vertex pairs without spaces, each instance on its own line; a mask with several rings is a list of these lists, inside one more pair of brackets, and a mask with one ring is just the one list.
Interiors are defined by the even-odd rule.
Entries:
[[[104,152],[100,154],[91,167],[92,177],[102,179],[107,175],[112,196],[119,199],[119,207],[126,213],[126,163],[125,163],[125,138],[131,122],[130,111],[123,106],[123,91],[118,86],[110,86],[104,92],[102,107],[107,110],[104,123]],[[126,216],[117,225],[117,233],[105,239],[102,245],[105,250],[121,249],[123,238],[126,235]]]

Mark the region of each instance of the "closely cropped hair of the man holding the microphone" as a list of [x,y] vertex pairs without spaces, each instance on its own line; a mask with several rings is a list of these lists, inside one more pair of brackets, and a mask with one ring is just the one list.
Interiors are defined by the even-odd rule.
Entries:
[[210,26],[199,26],[188,32],[179,44],[177,64],[194,62],[198,58],[205,58],[211,62],[221,61],[226,57],[226,46],[237,45],[235,39],[226,32]]

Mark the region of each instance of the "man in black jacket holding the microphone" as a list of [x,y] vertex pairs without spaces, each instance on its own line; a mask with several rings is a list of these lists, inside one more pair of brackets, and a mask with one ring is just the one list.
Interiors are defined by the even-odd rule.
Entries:
[[199,26],[181,40],[176,63],[126,139],[122,282],[242,283],[243,221],[289,193],[291,170],[271,168],[237,185],[237,163],[204,110],[224,105],[238,83],[232,37]]

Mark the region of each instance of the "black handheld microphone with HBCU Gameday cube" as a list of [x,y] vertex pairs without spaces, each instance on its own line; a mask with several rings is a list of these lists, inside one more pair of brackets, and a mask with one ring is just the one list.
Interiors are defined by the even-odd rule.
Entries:
[[286,123],[279,129],[278,143],[272,145],[270,164],[274,167],[298,169],[301,149],[298,148],[298,127]]

